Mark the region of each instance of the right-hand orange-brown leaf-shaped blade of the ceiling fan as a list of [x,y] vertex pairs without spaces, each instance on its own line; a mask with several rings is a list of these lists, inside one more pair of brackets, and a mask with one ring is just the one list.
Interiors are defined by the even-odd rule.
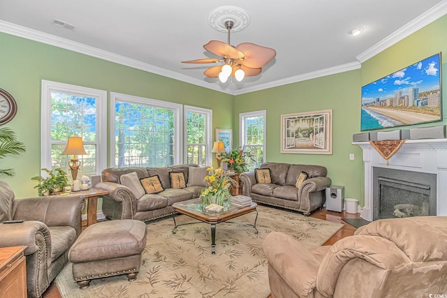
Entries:
[[244,53],[244,59],[239,63],[249,68],[261,68],[277,55],[277,51],[271,47],[254,43],[241,43],[236,49]]

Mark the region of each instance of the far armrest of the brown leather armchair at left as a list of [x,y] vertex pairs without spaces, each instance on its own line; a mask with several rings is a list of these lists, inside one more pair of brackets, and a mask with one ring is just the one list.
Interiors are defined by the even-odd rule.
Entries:
[[83,195],[48,195],[15,201],[14,219],[41,221],[48,227],[67,225],[79,236],[82,226]]

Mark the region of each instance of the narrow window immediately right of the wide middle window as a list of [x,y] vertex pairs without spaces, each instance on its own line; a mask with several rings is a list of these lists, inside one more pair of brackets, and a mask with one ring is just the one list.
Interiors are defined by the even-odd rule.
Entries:
[[212,110],[184,106],[184,161],[212,164]]

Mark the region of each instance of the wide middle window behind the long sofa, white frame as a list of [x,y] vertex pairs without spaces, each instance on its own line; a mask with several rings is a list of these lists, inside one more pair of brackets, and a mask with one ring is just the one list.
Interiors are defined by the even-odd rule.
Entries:
[[111,166],[182,163],[182,105],[117,93],[110,105]]

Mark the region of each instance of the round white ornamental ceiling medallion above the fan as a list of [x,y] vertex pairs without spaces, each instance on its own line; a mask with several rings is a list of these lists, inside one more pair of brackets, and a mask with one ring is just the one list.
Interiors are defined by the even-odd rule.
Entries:
[[227,21],[233,22],[231,31],[239,32],[247,28],[250,24],[250,16],[247,11],[237,6],[221,6],[212,10],[208,14],[208,24],[216,31],[226,33]]

